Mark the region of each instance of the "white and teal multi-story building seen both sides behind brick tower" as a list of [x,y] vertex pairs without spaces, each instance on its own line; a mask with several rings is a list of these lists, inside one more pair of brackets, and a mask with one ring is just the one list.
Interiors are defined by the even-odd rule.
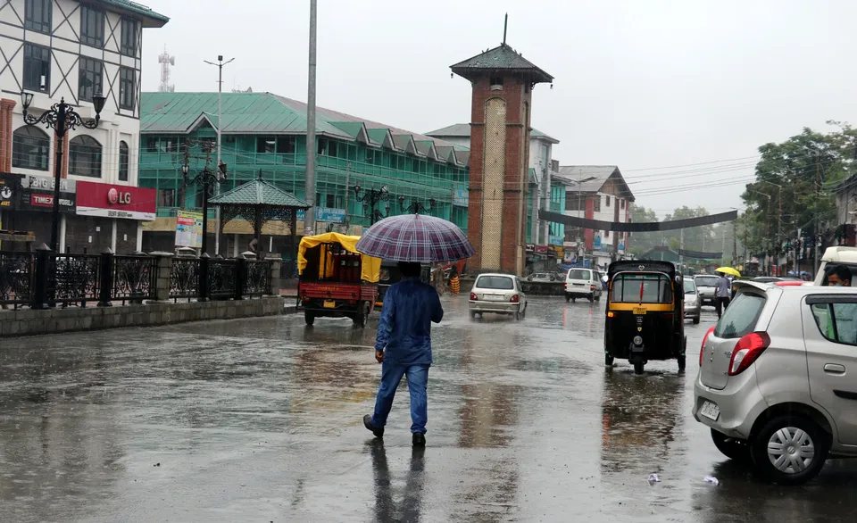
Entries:
[[[443,129],[426,133],[447,142],[470,147],[470,124],[456,123]],[[559,162],[553,160],[553,145],[560,141],[538,129],[529,133],[528,205],[527,205],[527,243],[536,245],[555,245],[562,247],[565,226],[562,223],[538,220],[539,209],[546,211],[565,211],[565,187],[562,181],[554,178],[558,174]],[[544,204],[543,204],[544,203]]]

